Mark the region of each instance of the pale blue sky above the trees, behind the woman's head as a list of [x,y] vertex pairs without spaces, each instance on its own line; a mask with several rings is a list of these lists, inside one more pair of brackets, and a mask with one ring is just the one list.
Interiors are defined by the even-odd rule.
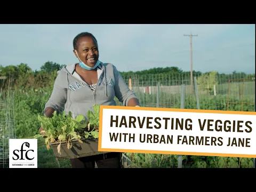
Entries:
[[21,62],[35,70],[46,61],[77,62],[73,38],[90,32],[98,40],[100,60],[119,71],[153,67],[190,70],[189,37],[193,37],[193,69],[231,73],[255,71],[253,25],[0,25],[0,65]]

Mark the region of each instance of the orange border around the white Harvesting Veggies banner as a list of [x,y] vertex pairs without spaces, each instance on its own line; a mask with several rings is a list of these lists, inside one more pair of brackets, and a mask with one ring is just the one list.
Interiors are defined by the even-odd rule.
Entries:
[[133,150],[133,149],[105,149],[101,148],[102,137],[102,116],[103,109],[130,109],[130,110],[151,110],[151,111],[175,111],[189,113],[210,113],[210,114],[238,114],[238,115],[256,115],[256,112],[250,111],[222,111],[222,110],[203,110],[203,109],[174,109],[174,108],[154,108],[154,107],[125,107],[125,106],[100,106],[100,127],[98,151],[121,152],[121,153],[148,153],[148,154],[170,154],[170,155],[195,155],[195,156],[219,156],[219,157],[244,157],[256,158],[255,155],[246,154],[220,154],[220,153],[197,153],[182,151],[155,151],[155,150]]

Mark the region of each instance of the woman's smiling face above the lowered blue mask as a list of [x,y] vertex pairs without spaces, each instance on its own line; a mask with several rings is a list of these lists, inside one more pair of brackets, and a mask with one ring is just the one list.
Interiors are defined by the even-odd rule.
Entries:
[[[80,37],[78,39],[76,52],[80,60],[90,67],[93,67],[99,59],[98,44],[89,36]],[[74,54],[77,57],[76,52],[74,50]]]

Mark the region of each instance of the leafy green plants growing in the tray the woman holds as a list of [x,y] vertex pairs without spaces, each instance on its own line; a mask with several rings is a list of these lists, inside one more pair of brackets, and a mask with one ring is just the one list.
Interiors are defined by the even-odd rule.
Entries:
[[65,111],[57,115],[54,111],[53,117],[38,115],[38,121],[41,122],[43,128],[42,134],[37,134],[34,138],[44,137],[47,150],[50,150],[50,144],[59,142],[58,153],[60,152],[61,142],[67,142],[67,148],[72,147],[73,140],[78,140],[83,143],[82,138],[93,137],[99,138],[99,113],[100,106],[93,105],[94,111],[87,111],[88,121],[85,120],[83,115],[78,115],[74,119],[71,112],[67,115]]

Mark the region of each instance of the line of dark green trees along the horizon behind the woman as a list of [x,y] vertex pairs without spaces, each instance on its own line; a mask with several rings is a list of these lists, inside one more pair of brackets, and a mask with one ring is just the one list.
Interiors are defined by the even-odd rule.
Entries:
[[[13,79],[14,86],[19,89],[30,89],[30,88],[42,88],[53,86],[54,80],[57,77],[57,71],[65,65],[60,65],[52,61],[45,62],[40,70],[32,70],[26,63],[20,63],[17,66],[1,66],[0,65],[0,76],[6,77],[6,79]],[[121,75],[125,78],[138,78],[139,81],[147,81],[150,78],[161,78],[164,77],[164,81],[168,81],[168,78],[185,78],[190,76],[190,71],[183,71],[178,67],[155,67],[141,71],[120,71]],[[212,71],[202,73],[201,71],[193,71],[193,76],[209,75]],[[229,79],[233,76],[239,76],[240,78],[255,77],[255,74],[237,73],[233,71],[231,74],[220,74],[216,72],[217,76],[221,78]],[[9,81],[1,83],[1,86],[7,85]],[[1,81],[1,80],[0,80]]]

